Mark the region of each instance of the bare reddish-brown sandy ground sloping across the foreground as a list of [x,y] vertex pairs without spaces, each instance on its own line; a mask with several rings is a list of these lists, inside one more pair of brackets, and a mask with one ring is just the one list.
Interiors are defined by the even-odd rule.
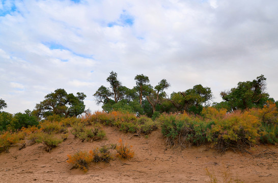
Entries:
[[[34,144],[0,154],[0,182],[208,182],[207,168],[223,182],[223,172],[238,182],[278,182],[277,146],[256,146],[252,154],[228,151],[216,153],[208,146],[180,150],[166,148],[160,130],[137,137],[104,127],[106,140],[80,142],[68,139],[47,153],[43,144]],[[110,163],[91,164],[84,173],[66,163],[67,155],[77,150],[117,143],[119,138],[133,146],[131,160],[115,159]],[[234,181],[235,182],[235,181]]]

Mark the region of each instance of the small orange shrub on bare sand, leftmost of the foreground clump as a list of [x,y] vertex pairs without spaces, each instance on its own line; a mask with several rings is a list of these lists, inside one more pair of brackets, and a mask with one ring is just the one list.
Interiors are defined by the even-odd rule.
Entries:
[[93,160],[92,151],[88,153],[87,151],[78,151],[74,155],[67,155],[68,160],[67,163],[72,164],[73,168],[80,168],[81,170],[87,172],[89,168],[89,164]]

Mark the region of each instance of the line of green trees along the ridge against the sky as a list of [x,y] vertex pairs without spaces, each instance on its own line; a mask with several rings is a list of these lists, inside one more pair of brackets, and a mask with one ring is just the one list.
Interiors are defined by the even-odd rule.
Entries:
[[[93,95],[96,103],[102,105],[102,109],[106,112],[128,111],[155,118],[163,112],[185,111],[200,114],[206,106],[225,108],[228,112],[233,112],[254,107],[263,108],[267,101],[275,102],[266,93],[264,75],[258,76],[253,81],[238,82],[237,86],[221,92],[223,101],[219,103],[211,103],[213,98],[211,88],[201,84],[184,91],[173,92],[168,96],[165,90],[171,85],[166,79],[161,79],[155,86],[152,86],[149,77],[143,74],[136,75],[134,80],[135,86],[128,88],[122,85],[116,72],[110,72],[106,79],[109,87],[101,85]],[[39,120],[48,116],[58,115],[67,118],[90,113],[84,104],[86,97],[84,93],[78,92],[73,95],[68,94],[65,89],[56,89],[46,95],[42,102],[36,104],[33,111],[26,110],[25,113],[19,112],[14,115],[0,112],[0,131],[6,130],[9,125],[15,129],[36,125]],[[6,107],[7,103],[0,99],[0,110]]]

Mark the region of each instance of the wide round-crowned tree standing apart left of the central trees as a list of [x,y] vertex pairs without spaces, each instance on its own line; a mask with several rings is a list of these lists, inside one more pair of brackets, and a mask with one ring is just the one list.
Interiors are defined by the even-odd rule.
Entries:
[[87,96],[84,93],[67,94],[65,89],[56,89],[54,93],[47,94],[45,100],[35,107],[35,113],[38,117],[47,117],[57,114],[63,117],[78,116],[85,112],[84,99]]

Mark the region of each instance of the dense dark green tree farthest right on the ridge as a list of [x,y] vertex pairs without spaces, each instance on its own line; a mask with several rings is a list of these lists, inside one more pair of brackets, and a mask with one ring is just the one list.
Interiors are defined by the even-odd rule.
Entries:
[[221,92],[220,96],[228,103],[231,110],[262,108],[269,99],[269,95],[265,93],[265,81],[266,78],[261,75],[253,81],[239,82],[237,87]]

